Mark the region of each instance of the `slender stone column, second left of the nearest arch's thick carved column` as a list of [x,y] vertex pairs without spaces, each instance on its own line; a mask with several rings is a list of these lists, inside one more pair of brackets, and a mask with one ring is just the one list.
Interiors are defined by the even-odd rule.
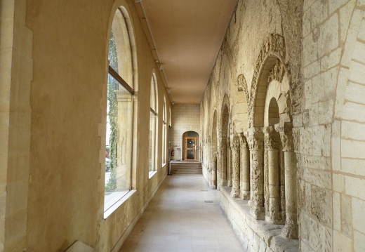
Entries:
[[232,141],[232,191],[231,197],[238,198],[239,190],[239,138],[234,137]]

